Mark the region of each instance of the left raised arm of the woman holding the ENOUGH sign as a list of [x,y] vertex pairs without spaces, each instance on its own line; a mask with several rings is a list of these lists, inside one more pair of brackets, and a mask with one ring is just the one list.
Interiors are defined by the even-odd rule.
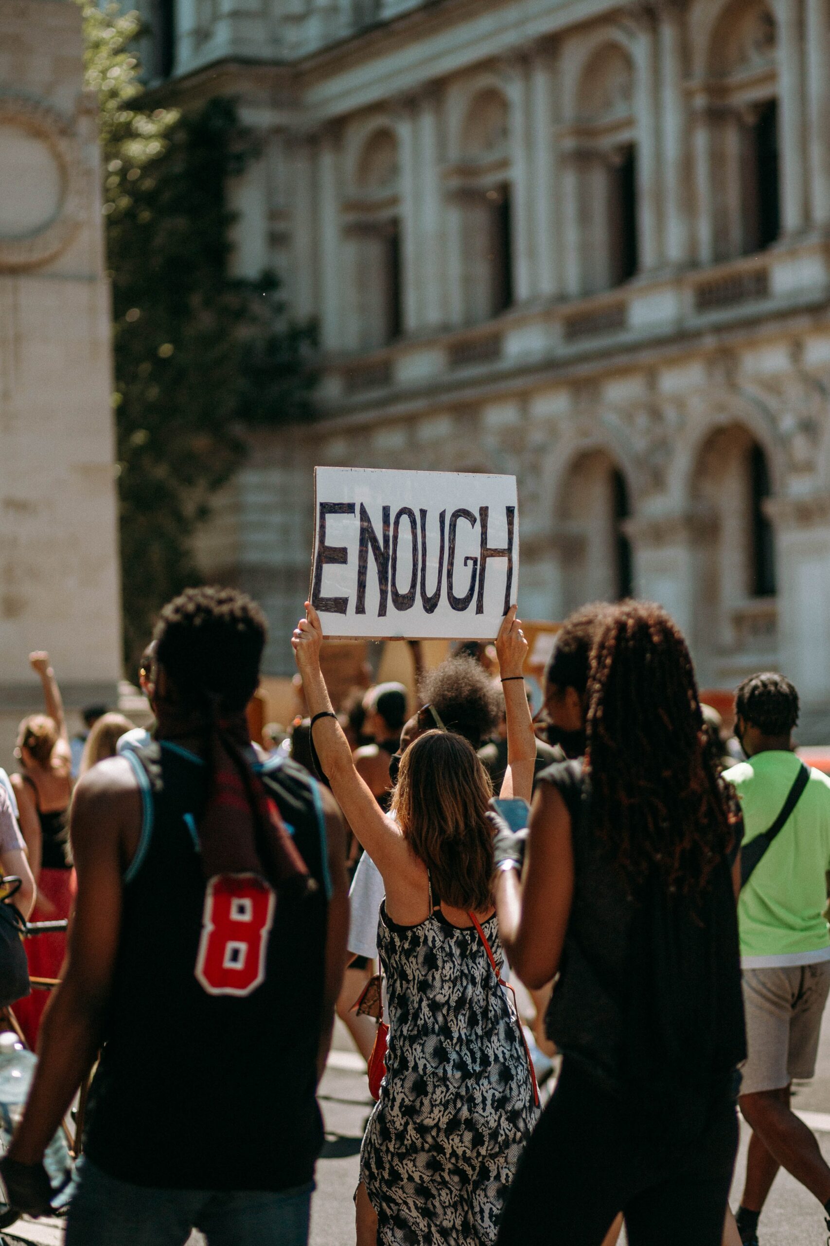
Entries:
[[311,728],[314,745],[346,821],[387,881],[387,877],[394,877],[406,868],[409,852],[396,822],[381,811],[370,787],[355,769],[352,750],[335,716],[320,669],[322,628],[317,612],[309,602],[306,614],[294,629],[291,644],[302,675],[309,714],[311,719],[317,714],[326,715],[319,718]]

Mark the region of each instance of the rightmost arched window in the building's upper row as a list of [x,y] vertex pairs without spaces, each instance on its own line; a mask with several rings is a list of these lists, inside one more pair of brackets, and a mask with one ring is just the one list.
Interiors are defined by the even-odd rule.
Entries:
[[732,0],[709,52],[714,257],[763,250],[780,233],[775,20],[764,0]]

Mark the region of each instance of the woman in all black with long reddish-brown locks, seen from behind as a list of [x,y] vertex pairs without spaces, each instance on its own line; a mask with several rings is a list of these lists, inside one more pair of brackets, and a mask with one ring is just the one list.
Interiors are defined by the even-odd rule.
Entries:
[[728,805],[702,743],[688,649],[658,606],[595,635],[584,760],[541,776],[521,836],[494,841],[510,964],[559,973],[556,1090],[519,1165],[499,1246],[719,1246],[745,1055]]

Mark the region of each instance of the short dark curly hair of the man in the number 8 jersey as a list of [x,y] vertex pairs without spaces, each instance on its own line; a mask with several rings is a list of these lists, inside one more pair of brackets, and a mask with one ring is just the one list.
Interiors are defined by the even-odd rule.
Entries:
[[156,658],[185,704],[244,709],[256,692],[268,638],[261,609],[235,588],[185,588],[162,609]]

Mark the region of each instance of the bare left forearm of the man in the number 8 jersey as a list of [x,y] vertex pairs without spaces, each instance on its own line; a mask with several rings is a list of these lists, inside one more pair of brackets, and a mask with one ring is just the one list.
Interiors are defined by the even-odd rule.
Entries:
[[24,1119],[9,1149],[17,1163],[42,1160],[98,1053],[102,1012],[77,998],[66,983],[56,988],[41,1023],[40,1058]]

